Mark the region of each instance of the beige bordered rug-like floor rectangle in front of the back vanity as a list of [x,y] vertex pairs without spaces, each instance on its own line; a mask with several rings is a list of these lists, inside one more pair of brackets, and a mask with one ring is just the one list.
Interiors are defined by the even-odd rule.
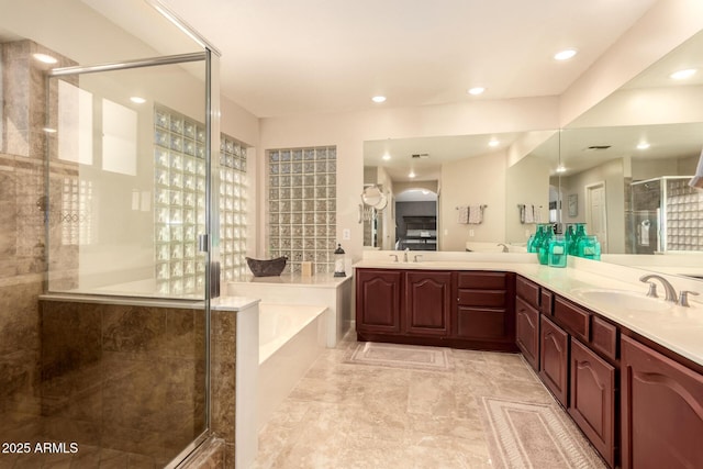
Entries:
[[359,343],[356,347],[350,347],[344,361],[347,364],[436,371],[454,368],[448,348],[379,344],[375,342]]

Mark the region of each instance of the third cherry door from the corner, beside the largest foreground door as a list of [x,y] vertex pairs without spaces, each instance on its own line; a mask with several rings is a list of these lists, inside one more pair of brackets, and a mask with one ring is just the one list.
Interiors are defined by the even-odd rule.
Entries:
[[603,456],[615,467],[615,368],[571,338],[569,414]]

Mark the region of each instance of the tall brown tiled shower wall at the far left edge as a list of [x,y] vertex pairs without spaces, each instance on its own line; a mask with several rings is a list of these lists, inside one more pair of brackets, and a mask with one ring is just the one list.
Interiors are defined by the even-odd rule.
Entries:
[[31,54],[56,54],[31,41],[4,43],[0,51],[0,436],[7,440],[8,434],[31,434],[40,412],[46,93]]

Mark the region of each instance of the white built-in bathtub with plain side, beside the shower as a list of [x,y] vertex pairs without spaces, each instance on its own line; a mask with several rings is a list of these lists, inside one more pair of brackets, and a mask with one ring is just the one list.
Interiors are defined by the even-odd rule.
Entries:
[[325,349],[326,311],[326,306],[259,304],[258,429]]

